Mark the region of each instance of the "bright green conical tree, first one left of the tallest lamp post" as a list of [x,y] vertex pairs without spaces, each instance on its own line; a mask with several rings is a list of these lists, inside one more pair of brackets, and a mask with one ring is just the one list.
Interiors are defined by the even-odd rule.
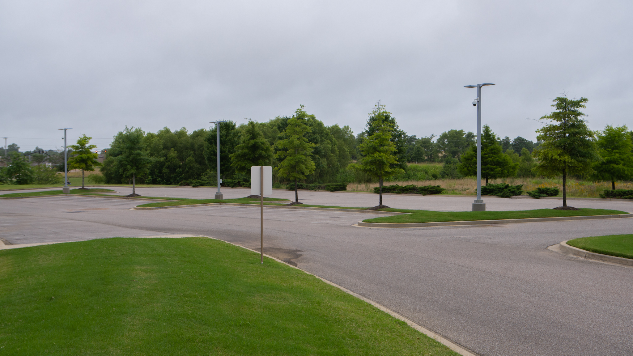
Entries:
[[404,170],[397,166],[396,143],[391,141],[391,132],[394,130],[392,122],[387,117],[378,115],[370,120],[375,130],[358,146],[363,158],[360,163],[351,163],[349,168],[378,178],[379,203],[372,208],[377,210],[385,207],[382,205],[382,181],[393,175],[403,174]]

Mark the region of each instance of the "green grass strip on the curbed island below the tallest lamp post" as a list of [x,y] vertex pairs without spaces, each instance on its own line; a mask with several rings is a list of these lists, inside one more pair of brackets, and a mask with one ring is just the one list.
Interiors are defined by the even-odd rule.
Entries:
[[537,217],[569,217],[589,215],[616,215],[626,214],[620,210],[589,209],[580,210],[517,210],[508,212],[434,212],[431,210],[398,210],[385,209],[399,212],[410,212],[408,215],[392,215],[365,219],[363,222],[382,222],[391,224],[408,224],[412,222],[444,222],[444,221],[474,221],[474,220],[502,220],[502,219],[529,219]]

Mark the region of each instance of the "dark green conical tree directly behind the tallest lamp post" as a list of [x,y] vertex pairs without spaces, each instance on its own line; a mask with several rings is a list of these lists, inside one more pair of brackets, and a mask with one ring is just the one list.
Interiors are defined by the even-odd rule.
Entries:
[[[513,151],[514,153],[514,151]],[[490,126],[484,125],[481,134],[481,176],[486,179],[511,177],[517,174],[518,163],[505,153],[498,142],[497,136]],[[463,175],[477,175],[477,145],[473,145],[461,156],[459,167]]]

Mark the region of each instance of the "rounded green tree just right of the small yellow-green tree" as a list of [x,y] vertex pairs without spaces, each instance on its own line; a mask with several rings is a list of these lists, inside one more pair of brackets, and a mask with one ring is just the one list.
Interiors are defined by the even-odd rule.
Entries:
[[147,173],[147,167],[151,159],[147,155],[146,145],[143,142],[145,132],[140,127],[125,127],[125,130],[115,136],[113,146],[118,146],[120,155],[115,157],[115,170],[125,178],[132,178],[132,194],[136,194],[136,177]]

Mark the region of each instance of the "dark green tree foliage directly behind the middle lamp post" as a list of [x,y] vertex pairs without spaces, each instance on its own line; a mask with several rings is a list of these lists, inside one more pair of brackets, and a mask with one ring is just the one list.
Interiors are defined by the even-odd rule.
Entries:
[[[232,165],[231,155],[235,153],[235,147],[241,141],[241,130],[235,127],[235,122],[228,121],[220,123],[220,175],[222,179],[231,177],[235,168]],[[206,135],[206,145],[204,145],[204,157],[211,170],[217,172],[218,165],[218,136],[217,126],[213,127]],[[249,167],[250,169],[250,167]]]

